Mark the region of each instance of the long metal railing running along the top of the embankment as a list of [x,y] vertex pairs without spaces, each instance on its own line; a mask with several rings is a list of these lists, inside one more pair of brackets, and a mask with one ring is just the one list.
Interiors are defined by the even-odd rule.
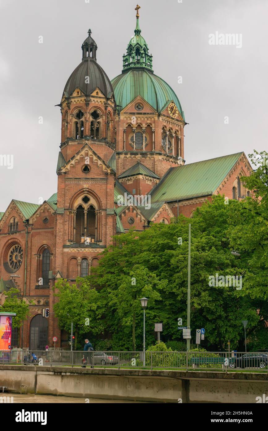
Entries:
[[177,370],[267,370],[268,355],[262,352],[121,352],[70,350],[0,351],[1,364],[91,366]]

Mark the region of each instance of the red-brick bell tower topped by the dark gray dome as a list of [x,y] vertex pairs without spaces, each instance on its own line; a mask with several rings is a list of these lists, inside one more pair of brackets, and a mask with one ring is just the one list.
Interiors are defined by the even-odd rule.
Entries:
[[116,233],[115,100],[111,82],[97,62],[97,44],[82,44],[82,61],[68,79],[60,103],[62,135],[57,164],[56,271],[86,276]]

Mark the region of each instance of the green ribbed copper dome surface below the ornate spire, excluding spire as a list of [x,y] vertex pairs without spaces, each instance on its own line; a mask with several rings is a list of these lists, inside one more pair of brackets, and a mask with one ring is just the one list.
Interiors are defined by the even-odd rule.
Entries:
[[159,76],[146,69],[130,69],[118,75],[111,83],[120,110],[138,96],[146,100],[157,112],[162,112],[166,104],[173,100],[180,115],[185,119],[182,106],[173,89]]

